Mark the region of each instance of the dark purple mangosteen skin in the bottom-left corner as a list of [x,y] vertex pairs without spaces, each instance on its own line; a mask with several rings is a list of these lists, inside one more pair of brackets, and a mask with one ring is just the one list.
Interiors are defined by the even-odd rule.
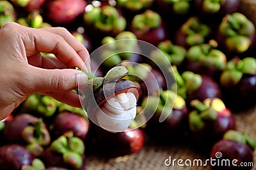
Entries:
[[20,170],[22,165],[30,165],[34,159],[35,155],[21,145],[4,145],[0,148],[1,170]]

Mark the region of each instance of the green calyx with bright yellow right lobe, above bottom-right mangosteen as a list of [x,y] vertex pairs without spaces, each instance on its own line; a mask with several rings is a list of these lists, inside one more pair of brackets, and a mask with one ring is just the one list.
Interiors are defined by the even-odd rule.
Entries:
[[205,121],[214,121],[218,117],[218,112],[225,110],[225,104],[221,99],[205,99],[191,101],[190,105],[195,110],[189,113],[189,127],[192,131],[199,131],[204,127]]

